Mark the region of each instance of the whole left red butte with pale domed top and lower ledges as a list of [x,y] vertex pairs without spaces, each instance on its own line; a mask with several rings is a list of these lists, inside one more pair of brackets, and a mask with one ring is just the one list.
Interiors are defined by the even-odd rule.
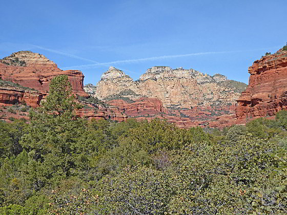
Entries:
[[[73,93],[83,97],[89,95],[83,89],[84,75],[78,70],[60,70],[44,55],[30,51],[19,51],[0,60],[0,105],[27,104],[37,107],[49,91],[50,80],[57,75],[67,75]],[[15,84],[16,83],[16,84]],[[118,107],[105,107],[86,104],[77,112],[78,116],[96,119],[126,120],[127,116],[119,112]],[[2,109],[1,119],[9,117],[28,119],[26,113],[10,113]]]

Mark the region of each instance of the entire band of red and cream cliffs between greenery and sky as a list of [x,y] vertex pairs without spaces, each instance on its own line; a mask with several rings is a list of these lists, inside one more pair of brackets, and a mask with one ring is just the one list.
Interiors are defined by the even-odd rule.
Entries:
[[[245,90],[244,83],[193,69],[153,67],[133,81],[124,72],[110,67],[96,86],[83,86],[84,75],[80,71],[60,70],[43,55],[21,51],[0,60],[0,78],[3,79],[0,80],[0,105],[26,103],[36,107],[47,95],[49,81],[56,75],[66,74],[74,94],[84,97],[90,94],[109,104],[92,105],[82,101],[85,108],[77,115],[86,118],[123,121],[128,117],[137,120],[158,117],[184,128],[223,127],[244,124],[257,117],[274,117],[279,110],[286,109],[287,51],[281,49],[256,60],[249,73]],[[28,119],[27,114],[19,116],[5,110],[7,116],[2,114],[1,119],[8,120],[9,116]]]

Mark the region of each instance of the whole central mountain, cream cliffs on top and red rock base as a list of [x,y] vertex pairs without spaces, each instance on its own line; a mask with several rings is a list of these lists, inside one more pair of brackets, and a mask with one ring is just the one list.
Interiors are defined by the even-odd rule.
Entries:
[[110,67],[96,86],[87,84],[85,90],[128,117],[161,118],[188,128],[234,124],[235,103],[246,87],[224,75],[170,67],[152,67],[134,81]]

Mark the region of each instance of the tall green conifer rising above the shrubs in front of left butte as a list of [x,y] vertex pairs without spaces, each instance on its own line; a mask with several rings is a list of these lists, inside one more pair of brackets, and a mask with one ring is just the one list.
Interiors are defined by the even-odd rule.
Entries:
[[66,75],[51,80],[50,93],[39,109],[30,111],[30,124],[21,140],[29,163],[23,174],[32,189],[40,190],[48,182],[59,181],[85,168],[84,156],[90,147],[82,142],[87,134],[87,120],[77,118],[78,105],[71,95]]

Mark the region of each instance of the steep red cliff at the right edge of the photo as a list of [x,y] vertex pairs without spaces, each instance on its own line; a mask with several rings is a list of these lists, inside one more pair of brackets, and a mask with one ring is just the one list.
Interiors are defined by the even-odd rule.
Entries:
[[263,56],[248,69],[249,85],[238,99],[236,116],[242,123],[275,115],[287,108],[287,51]]

